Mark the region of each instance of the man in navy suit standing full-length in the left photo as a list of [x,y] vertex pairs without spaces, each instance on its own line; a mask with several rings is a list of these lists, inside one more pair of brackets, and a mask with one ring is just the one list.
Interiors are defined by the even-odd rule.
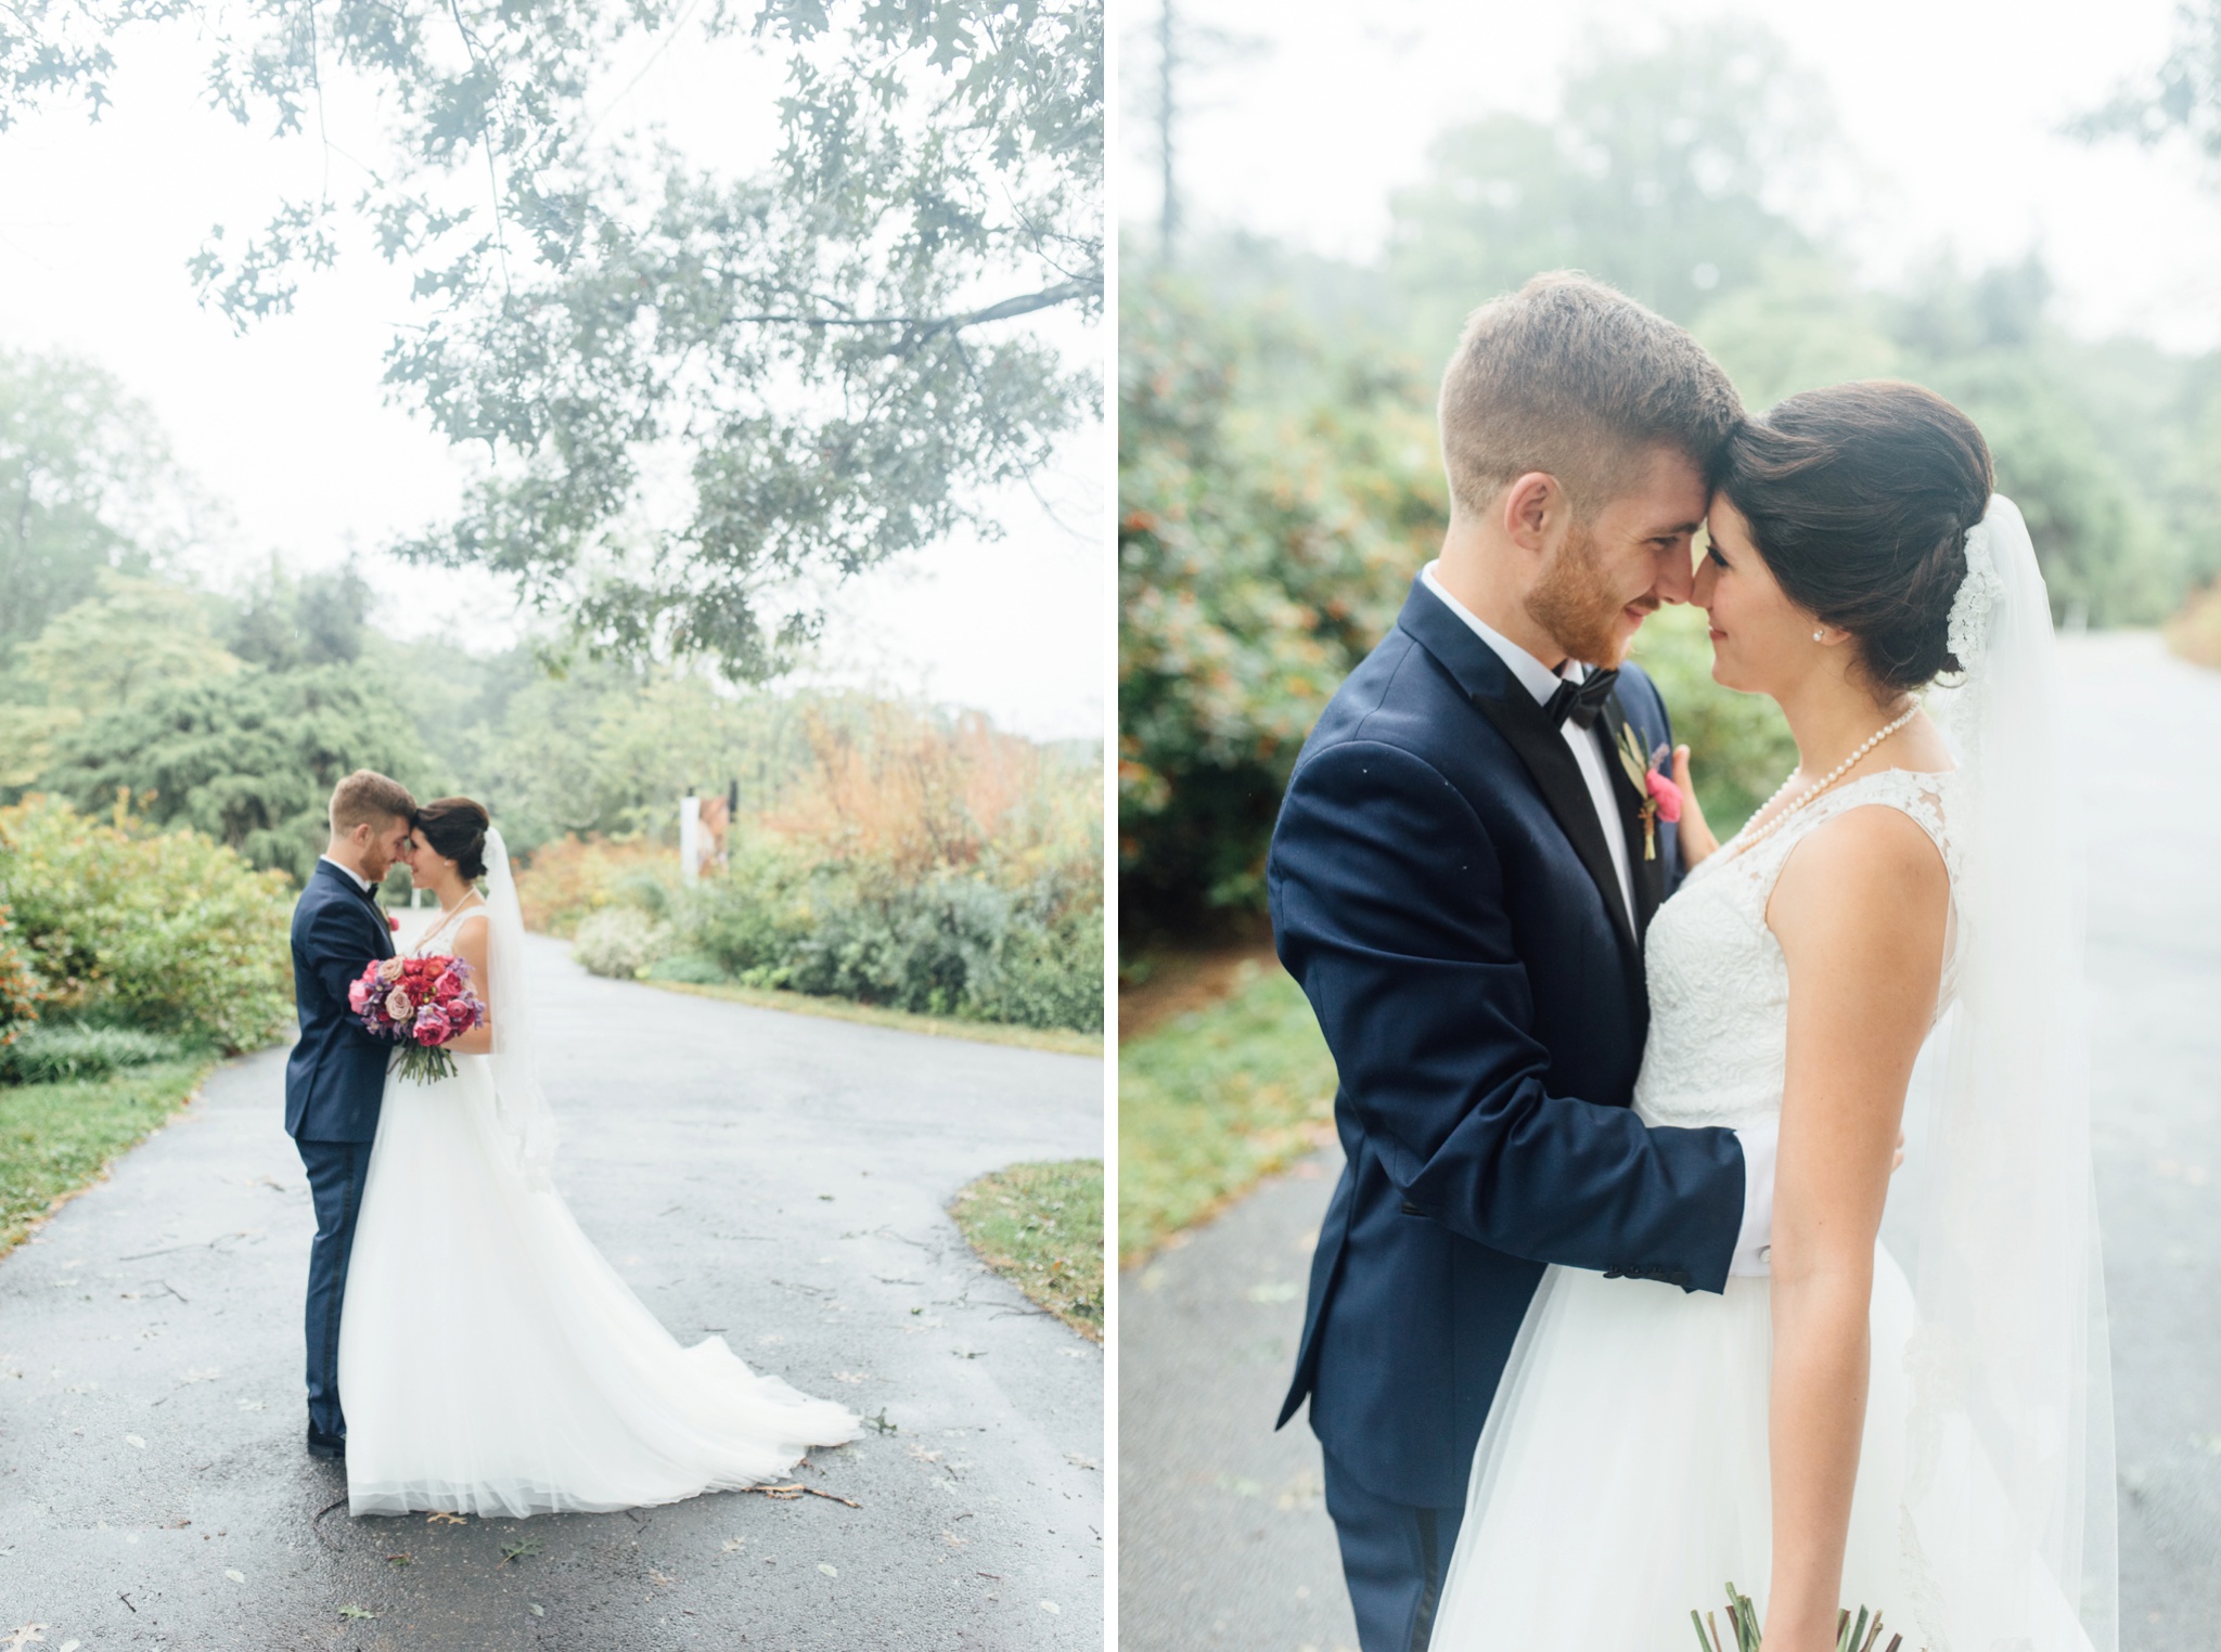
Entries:
[[284,1128],[309,1170],[315,1241],[309,1248],[309,1454],[346,1457],[340,1410],[340,1301],[355,1210],[386,1092],[389,1048],[346,1004],[371,959],[393,957],[378,879],[402,857],[415,799],[358,768],[331,790],[331,842],[293,908],[293,1006],[300,1044],[284,1064]]

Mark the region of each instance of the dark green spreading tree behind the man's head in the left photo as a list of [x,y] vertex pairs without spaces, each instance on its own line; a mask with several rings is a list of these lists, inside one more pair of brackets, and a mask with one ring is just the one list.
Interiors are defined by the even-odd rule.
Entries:
[[418,786],[426,764],[378,684],[318,666],[153,688],[58,739],[40,786],[87,810],[129,793],[155,826],[191,826],[306,879],[331,788],[355,768]]

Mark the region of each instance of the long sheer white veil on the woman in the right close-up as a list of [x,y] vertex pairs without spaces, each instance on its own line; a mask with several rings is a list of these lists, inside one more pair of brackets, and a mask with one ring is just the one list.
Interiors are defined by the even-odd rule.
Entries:
[[[2063,693],[2028,526],[1997,495],[1952,608],[1963,679],[1957,1006],[1908,1099],[1901,1541],[1930,1652],[2114,1652],[2112,1386],[2081,1024]],[[2083,1639],[2088,1636],[2088,1639]]]

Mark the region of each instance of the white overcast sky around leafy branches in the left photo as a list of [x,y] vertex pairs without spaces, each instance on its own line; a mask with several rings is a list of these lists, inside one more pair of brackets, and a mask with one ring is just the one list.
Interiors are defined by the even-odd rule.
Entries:
[[[380,624],[453,628],[471,646],[517,633],[491,580],[424,575],[378,551],[446,513],[464,477],[449,446],[386,406],[382,355],[411,318],[406,278],[360,246],[306,282],[300,306],[235,338],[184,273],[211,224],[238,238],[287,193],[351,200],[358,158],[382,155],[373,111],[331,89],[331,151],[271,142],[211,113],[187,27],[120,47],[113,109],[60,107],[0,133],[0,346],[60,349],[115,373],[180,464],[235,522],[222,580],[282,553],[322,568],[362,553]],[[746,49],[635,47],[604,78],[606,131],[653,120],[691,158],[753,169],[777,142],[773,64]],[[1057,333],[1079,355],[1102,329]],[[1102,522],[1106,437],[1075,440],[1053,475],[995,502],[1006,537],[962,540],[851,586],[817,675],[977,706],[1037,737],[1099,737],[1108,673]]]

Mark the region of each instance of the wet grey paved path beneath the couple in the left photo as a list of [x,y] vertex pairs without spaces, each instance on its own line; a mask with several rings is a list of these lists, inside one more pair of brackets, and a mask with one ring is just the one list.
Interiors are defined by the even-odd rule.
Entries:
[[300,1443],[313,1219],[273,1050],[0,1261],[0,1645],[1102,1645],[1102,1352],[942,1208],[1097,1157],[1102,1064],[533,966],[580,1223],[680,1341],[884,1410],[804,1474],[862,1508],[320,1517],[344,1481]]

